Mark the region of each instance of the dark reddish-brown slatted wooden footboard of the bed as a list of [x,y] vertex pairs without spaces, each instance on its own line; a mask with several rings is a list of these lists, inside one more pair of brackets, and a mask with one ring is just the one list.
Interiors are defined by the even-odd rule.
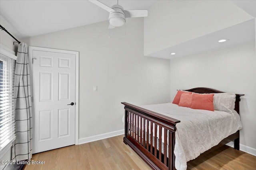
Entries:
[[[180,121],[122,102],[125,109],[124,143],[153,169],[174,170],[176,123]],[[162,146],[162,139],[164,142]]]

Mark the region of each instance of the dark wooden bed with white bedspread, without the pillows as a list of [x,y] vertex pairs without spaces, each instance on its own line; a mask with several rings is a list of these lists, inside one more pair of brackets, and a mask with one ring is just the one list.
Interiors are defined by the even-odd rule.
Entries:
[[[211,88],[193,88],[185,91],[199,94],[224,93]],[[196,122],[196,119],[192,119],[189,117],[187,117],[187,119],[182,118],[182,116],[184,117],[184,114],[186,112],[191,112],[190,108],[175,106],[171,103],[138,107],[132,104],[128,104],[126,102],[122,102],[125,109],[124,143],[129,145],[149,166],[156,170],[186,169],[186,165],[184,165],[184,160],[186,164],[188,160],[196,158],[199,155],[211,152],[212,150],[215,150],[230,141],[234,141],[234,148],[239,150],[239,129],[241,129],[241,127],[239,127],[239,123],[236,123],[235,121],[232,123],[226,122],[228,122],[228,119],[231,119],[230,116],[234,117],[234,119],[239,119],[240,121],[238,115],[241,96],[244,96],[244,94],[235,95],[235,106],[232,113],[227,114],[223,111],[215,110],[215,114],[210,113],[211,111],[208,111],[209,113],[207,111],[201,113],[201,111],[198,109],[192,109],[195,110],[192,111],[195,112],[193,113],[194,117],[197,117],[198,114],[204,115],[204,117],[208,119],[207,121],[209,121],[210,124],[213,124],[213,127],[214,124],[218,124],[216,126],[218,126],[219,128],[232,129],[228,132],[223,131],[223,135],[222,133],[213,133],[214,135],[207,135],[204,133],[201,134],[200,132],[198,133],[196,131],[196,128],[204,124],[200,123],[201,119],[199,119],[200,121]],[[182,108],[181,111],[178,111],[178,109],[180,108]],[[172,113],[167,113],[168,109],[170,109],[171,112],[180,113],[178,116]],[[183,112],[184,114],[182,114]],[[188,115],[188,113],[186,114]],[[214,115],[216,118],[209,117],[211,115]],[[179,118],[182,120],[182,123],[180,123],[181,121],[179,120]],[[212,119],[214,120],[211,121]],[[190,125],[190,122],[197,123],[197,125]],[[205,125],[203,128],[207,129],[208,125]],[[183,133],[181,130],[183,130]],[[208,131],[215,130],[212,129],[212,127],[209,127]],[[184,132],[188,133],[187,136],[190,136],[191,141],[194,141],[194,139],[198,139],[198,143],[200,143],[200,140],[202,139],[202,141],[206,140],[208,142],[213,142],[209,145],[207,143],[206,146],[201,144],[201,147],[197,148],[186,146],[186,142],[185,144],[184,142],[180,142],[185,139]],[[201,132],[204,131],[201,130]],[[183,153],[183,150],[180,151],[180,148],[181,150],[184,148],[185,158],[183,154],[180,154]],[[188,153],[192,154],[192,156],[187,156]]]

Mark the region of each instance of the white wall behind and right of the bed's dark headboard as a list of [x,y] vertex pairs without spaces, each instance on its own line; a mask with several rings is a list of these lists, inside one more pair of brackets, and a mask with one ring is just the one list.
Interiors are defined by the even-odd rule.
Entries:
[[194,87],[245,94],[240,102],[243,126],[240,131],[240,144],[252,147],[256,151],[255,56],[255,42],[251,42],[171,59],[170,94],[173,100],[176,89]]

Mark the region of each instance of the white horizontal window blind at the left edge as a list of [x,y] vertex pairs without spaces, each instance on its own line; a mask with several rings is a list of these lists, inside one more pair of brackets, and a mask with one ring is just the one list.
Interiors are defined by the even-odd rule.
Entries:
[[15,139],[15,60],[0,54],[0,153]]

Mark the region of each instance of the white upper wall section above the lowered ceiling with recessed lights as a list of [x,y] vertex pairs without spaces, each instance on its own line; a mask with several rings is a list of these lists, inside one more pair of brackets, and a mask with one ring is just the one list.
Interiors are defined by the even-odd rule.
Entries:
[[231,1],[158,0],[144,20],[144,55],[252,18]]

